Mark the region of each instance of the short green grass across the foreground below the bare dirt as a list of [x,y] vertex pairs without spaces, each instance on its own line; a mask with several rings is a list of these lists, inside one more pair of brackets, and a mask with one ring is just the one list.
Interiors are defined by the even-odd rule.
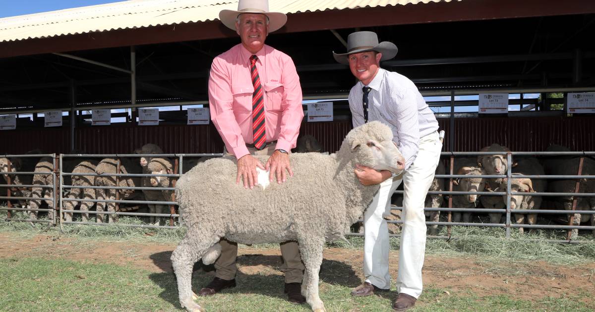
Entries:
[[[353,285],[321,272],[321,299],[330,311],[392,311],[394,292],[355,298]],[[211,279],[195,272],[193,289]],[[308,305],[285,300],[283,278],[278,275],[239,275],[238,286],[199,303],[208,311],[309,311]],[[177,286],[172,273],[152,273],[112,264],[62,259],[0,259],[2,311],[179,311]],[[584,303],[586,301],[588,303]],[[590,294],[572,300],[512,296],[478,297],[472,291],[427,286],[412,311],[593,311]]]

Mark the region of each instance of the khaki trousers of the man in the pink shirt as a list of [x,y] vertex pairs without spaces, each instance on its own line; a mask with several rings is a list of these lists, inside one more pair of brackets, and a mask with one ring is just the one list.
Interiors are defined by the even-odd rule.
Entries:
[[[248,152],[251,155],[273,155],[275,151],[274,144],[268,144],[262,150],[256,150],[248,147]],[[223,157],[234,157],[227,150],[224,150]],[[264,163],[262,164],[264,165]],[[215,261],[215,276],[227,281],[236,278],[237,266],[237,243],[230,242],[222,238],[219,241],[221,244],[221,256]],[[281,243],[281,257],[283,257],[283,264],[280,270],[285,273],[286,283],[301,283],[303,278],[303,263],[299,253],[299,246],[296,241],[287,241]]]

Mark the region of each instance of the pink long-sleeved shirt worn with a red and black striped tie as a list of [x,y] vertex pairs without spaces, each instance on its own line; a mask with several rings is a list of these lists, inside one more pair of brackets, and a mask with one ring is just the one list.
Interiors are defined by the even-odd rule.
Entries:
[[[209,76],[211,119],[228,152],[236,159],[249,154],[253,143],[250,53],[240,43],[217,56]],[[264,87],[267,142],[277,140],[275,149],[296,146],[302,123],[302,88],[292,59],[265,45],[256,53],[256,68]]]

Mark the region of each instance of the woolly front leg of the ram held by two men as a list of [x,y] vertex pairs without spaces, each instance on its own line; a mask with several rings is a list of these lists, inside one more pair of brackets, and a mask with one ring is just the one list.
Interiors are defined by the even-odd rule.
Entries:
[[[314,234],[314,232],[309,232]],[[324,238],[303,238],[297,240],[299,242],[299,250],[302,254],[302,261],[306,266],[304,280],[308,282],[306,289],[306,302],[312,307],[314,312],[324,312],[324,303],[320,300],[318,295],[318,272],[320,272],[320,265],[322,264],[322,248],[324,248]],[[302,286],[302,294],[304,292]]]

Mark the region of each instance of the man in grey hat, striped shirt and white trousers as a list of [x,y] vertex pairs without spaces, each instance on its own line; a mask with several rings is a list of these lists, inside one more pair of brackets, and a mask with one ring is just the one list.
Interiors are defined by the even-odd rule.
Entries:
[[378,43],[371,31],[358,31],[347,39],[347,53],[333,52],[337,62],[349,65],[359,82],[349,92],[353,127],[380,121],[393,131],[394,144],[405,157],[405,171],[393,177],[389,171],[375,171],[356,165],[355,174],[364,185],[380,184],[380,190],[364,215],[365,282],[352,295],[367,296],[390,290],[389,232],[383,215],[390,214],[390,197],[403,181],[403,230],[399,252],[397,292],[394,310],[415,305],[422,291],[421,269],[425,254],[424,201],[440,160],[442,144],[438,122],[415,84],[403,75],[380,68],[380,61],[393,58],[397,47]]

